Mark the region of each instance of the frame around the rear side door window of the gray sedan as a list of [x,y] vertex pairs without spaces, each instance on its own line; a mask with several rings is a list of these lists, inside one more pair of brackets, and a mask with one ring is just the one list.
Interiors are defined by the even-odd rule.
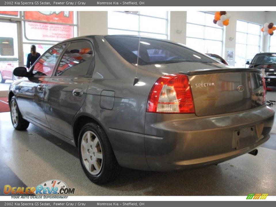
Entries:
[[[93,54],[94,54],[93,58],[92,58],[92,60],[89,64],[89,68],[87,70],[86,75],[84,75],[84,76],[83,75],[81,75],[81,76],[68,76],[68,75],[67,76],[58,76],[58,75],[56,75],[58,66],[60,65],[60,62],[62,61],[62,58],[63,58],[66,50],[68,49],[68,47],[70,47],[71,43],[76,43],[76,42],[87,42],[91,46],[91,49],[92,49]],[[90,39],[76,39],[76,40],[73,40],[73,41],[68,41],[66,47],[64,48],[64,51],[62,52],[62,55],[60,56],[59,60],[57,61],[57,64],[55,65],[55,70],[53,71],[51,77],[67,77],[67,78],[69,78],[69,77],[91,77],[92,74],[93,74],[94,68],[95,68],[95,56],[96,56],[95,55],[95,48],[94,48],[94,45],[93,45],[93,43]],[[72,67],[74,67],[74,66],[72,66]]]

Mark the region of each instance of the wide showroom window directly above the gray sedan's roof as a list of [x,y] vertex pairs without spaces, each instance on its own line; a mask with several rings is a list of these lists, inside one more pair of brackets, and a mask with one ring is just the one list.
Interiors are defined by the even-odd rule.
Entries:
[[108,11],[108,34],[133,34],[168,39],[167,11]]

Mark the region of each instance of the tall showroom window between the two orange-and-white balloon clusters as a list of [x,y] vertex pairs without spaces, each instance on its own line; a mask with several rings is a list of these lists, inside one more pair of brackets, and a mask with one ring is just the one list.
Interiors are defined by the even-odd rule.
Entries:
[[260,30],[259,24],[237,20],[236,28],[236,67],[248,67],[246,62],[260,52]]

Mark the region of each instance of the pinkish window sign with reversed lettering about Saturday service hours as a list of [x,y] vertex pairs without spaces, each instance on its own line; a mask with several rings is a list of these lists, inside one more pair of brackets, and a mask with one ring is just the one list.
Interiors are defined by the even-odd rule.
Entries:
[[25,35],[28,40],[59,42],[74,37],[74,26],[25,22]]

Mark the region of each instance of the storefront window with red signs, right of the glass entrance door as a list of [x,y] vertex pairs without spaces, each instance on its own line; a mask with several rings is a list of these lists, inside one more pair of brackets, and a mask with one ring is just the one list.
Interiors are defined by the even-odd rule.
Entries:
[[24,65],[30,46],[41,55],[56,43],[77,36],[76,11],[23,12]]

